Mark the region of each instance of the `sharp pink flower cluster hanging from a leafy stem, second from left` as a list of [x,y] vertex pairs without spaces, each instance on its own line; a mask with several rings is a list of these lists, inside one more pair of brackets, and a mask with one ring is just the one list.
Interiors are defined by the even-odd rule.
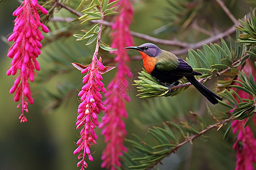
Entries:
[[101,100],[101,92],[105,93],[106,89],[101,82],[102,76],[100,74],[105,67],[100,60],[97,59],[96,53],[94,53],[92,63],[81,71],[81,74],[87,74],[82,80],[82,83],[85,85],[82,86],[82,90],[78,95],[81,103],[78,108],[79,115],[77,116],[76,129],[82,129],[80,131],[80,139],[76,142],[78,147],[73,152],[75,155],[81,152],[78,159],[82,160],[77,163],[77,167],[82,164],[81,169],[88,167],[88,164],[85,162],[86,154],[88,155],[89,160],[93,161],[90,146],[96,145],[97,135],[94,132],[94,129],[98,126],[97,114],[99,114],[101,110],[105,111],[105,107]]

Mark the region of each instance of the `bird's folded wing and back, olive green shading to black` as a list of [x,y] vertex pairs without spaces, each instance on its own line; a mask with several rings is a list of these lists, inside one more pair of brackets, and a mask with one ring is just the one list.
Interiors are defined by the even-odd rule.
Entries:
[[155,68],[172,75],[191,75],[193,69],[183,59],[176,57],[170,52],[163,52],[156,62]]

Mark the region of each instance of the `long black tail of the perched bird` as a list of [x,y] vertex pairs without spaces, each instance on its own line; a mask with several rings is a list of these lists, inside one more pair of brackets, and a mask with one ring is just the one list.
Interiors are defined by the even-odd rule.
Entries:
[[[196,89],[198,91],[200,91],[200,93],[202,95],[204,95],[205,97],[207,97],[207,99],[210,101],[210,103],[212,104],[217,104],[218,100],[222,100],[221,97],[217,96],[216,94],[214,94],[212,91],[210,91],[207,87],[205,87],[202,83],[200,83],[195,76],[185,76],[185,78],[188,79],[189,82],[191,82],[191,84],[193,86],[196,87]],[[217,99],[218,100],[217,100]]]

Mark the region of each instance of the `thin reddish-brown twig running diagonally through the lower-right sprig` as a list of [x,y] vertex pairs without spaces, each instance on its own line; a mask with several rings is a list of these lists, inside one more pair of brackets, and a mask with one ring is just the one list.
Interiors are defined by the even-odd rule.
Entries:
[[[167,156],[169,156],[169,155],[171,155],[172,153],[174,153],[178,148],[180,148],[181,146],[185,145],[186,143],[188,143],[188,142],[192,143],[193,139],[200,137],[201,135],[205,134],[205,133],[206,133],[207,131],[209,131],[210,129],[218,128],[218,127],[220,127],[221,125],[225,124],[226,122],[230,122],[230,121],[232,121],[232,120],[233,120],[233,117],[227,118],[227,119],[225,119],[225,120],[222,120],[222,121],[220,121],[220,122],[217,122],[217,123],[214,124],[214,125],[208,126],[208,127],[205,128],[204,130],[200,131],[198,134],[191,135],[190,137],[186,138],[185,141],[179,143],[175,148],[173,148],[173,149],[169,152],[169,154],[168,154]],[[166,156],[165,156],[164,158],[166,158]],[[148,168],[148,169],[152,169],[156,164],[158,164],[158,163],[161,162],[161,161],[162,161],[162,159],[158,160],[157,162],[155,162],[154,164],[152,164],[151,167]]]

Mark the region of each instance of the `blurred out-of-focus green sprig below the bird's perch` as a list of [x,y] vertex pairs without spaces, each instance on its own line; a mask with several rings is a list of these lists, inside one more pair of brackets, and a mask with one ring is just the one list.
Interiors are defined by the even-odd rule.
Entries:
[[191,101],[187,98],[191,95],[190,92],[192,91],[172,98],[158,97],[142,101],[142,112],[137,114],[138,111],[135,111],[135,122],[138,125],[156,125],[166,120],[175,121],[177,117],[183,117],[184,113],[189,111],[198,111],[201,103],[200,95],[193,96],[193,101]]

